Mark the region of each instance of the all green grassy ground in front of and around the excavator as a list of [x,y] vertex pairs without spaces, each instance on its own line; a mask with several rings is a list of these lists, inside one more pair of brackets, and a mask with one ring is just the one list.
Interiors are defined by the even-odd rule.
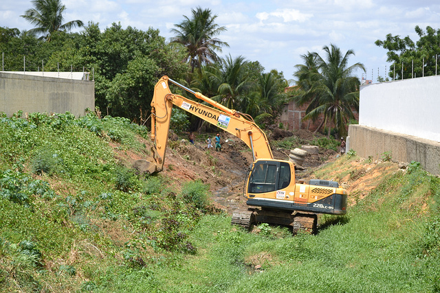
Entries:
[[344,156],[316,176],[358,184],[384,174],[371,191],[351,188],[346,216],[322,217],[317,235],[264,224],[248,233],[206,212],[201,183],[175,194],[173,181],[121,165],[109,142],[142,152],[140,134],[123,119],[93,116],[0,121],[2,291],[440,289],[439,179],[415,164],[390,172],[389,163]]

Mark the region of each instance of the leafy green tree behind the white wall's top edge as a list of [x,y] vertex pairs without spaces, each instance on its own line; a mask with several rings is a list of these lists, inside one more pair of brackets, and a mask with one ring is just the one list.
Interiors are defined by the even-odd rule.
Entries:
[[392,34],[387,34],[385,40],[375,41],[378,47],[388,50],[387,61],[393,62],[388,73],[390,78],[401,79],[402,72],[403,78],[435,75],[437,72],[436,60],[440,54],[440,30],[427,26],[426,32],[423,32],[416,25],[415,32],[419,36],[416,43],[409,36],[400,38]]

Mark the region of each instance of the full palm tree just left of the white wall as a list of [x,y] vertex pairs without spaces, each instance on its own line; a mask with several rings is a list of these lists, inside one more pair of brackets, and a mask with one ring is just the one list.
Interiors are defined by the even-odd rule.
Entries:
[[353,73],[358,69],[365,71],[365,67],[359,62],[348,66],[349,56],[354,55],[351,49],[346,54],[332,44],[322,49],[326,58],[309,53],[302,56],[305,65],[296,65],[298,71],[294,75],[299,78],[300,89],[296,100],[311,102],[304,119],[314,119],[322,113],[323,124],[329,126],[328,136],[331,122],[342,136],[347,133],[345,126],[349,119],[354,118],[352,108],[359,108],[360,80]]

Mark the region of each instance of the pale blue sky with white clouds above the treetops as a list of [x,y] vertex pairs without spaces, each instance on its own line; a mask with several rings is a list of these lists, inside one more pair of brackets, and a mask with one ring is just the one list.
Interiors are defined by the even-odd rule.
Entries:
[[[167,40],[170,29],[191,16],[191,9],[200,6],[217,14],[217,24],[228,31],[218,36],[229,43],[221,56],[244,56],[258,60],[265,71],[283,71],[292,79],[294,66],[302,64],[301,55],[317,51],[331,43],[342,51],[353,49],[350,65],[361,62],[366,78],[376,82],[384,77],[386,50],[377,47],[377,39],[386,34],[410,36],[418,40],[415,26],[440,28],[439,0],[64,0],[65,21],[80,19],[99,23],[101,30],[113,22],[138,30],[153,27]],[[32,8],[26,0],[0,3],[0,26],[30,30],[32,25],[20,17]],[[361,72],[358,73],[361,76]]]

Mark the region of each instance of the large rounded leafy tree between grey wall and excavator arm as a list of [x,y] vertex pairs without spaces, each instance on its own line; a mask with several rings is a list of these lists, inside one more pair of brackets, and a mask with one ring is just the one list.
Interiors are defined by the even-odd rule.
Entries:
[[189,71],[182,58],[184,52],[175,51],[153,28],[144,32],[113,23],[101,32],[98,24],[89,23],[52,54],[47,66],[94,69],[96,106],[102,113],[140,121],[141,110],[142,119],[148,116],[157,80],[162,75],[179,79]]

